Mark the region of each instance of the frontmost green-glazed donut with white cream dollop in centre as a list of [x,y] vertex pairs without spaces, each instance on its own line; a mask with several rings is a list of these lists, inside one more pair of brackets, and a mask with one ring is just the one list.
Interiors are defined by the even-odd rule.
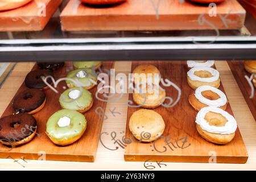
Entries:
[[66,146],[79,140],[86,130],[83,114],[69,109],[62,109],[52,114],[46,123],[46,134],[51,141]]

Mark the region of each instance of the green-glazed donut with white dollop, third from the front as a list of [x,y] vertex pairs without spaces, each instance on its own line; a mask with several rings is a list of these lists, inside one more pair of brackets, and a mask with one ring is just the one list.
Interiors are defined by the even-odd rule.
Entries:
[[71,78],[72,80],[74,80],[66,80],[69,88],[80,86],[81,84],[84,89],[89,90],[97,85],[97,76],[94,75],[92,69],[90,68],[82,68],[71,71],[68,73],[67,78]]

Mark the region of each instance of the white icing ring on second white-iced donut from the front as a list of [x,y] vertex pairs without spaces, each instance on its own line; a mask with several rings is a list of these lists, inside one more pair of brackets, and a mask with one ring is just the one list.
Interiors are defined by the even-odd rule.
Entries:
[[[205,98],[202,95],[202,92],[207,91],[207,90],[210,90],[210,91],[218,94],[218,96],[220,96],[220,98],[218,98],[217,100],[209,100],[208,98]],[[208,106],[213,106],[213,107],[224,106],[226,104],[226,102],[228,101],[225,93],[223,93],[221,90],[214,88],[213,86],[209,86],[209,85],[199,86],[199,88],[197,88],[195,91],[195,97],[197,98],[197,100],[199,100],[203,104],[206,104]]]

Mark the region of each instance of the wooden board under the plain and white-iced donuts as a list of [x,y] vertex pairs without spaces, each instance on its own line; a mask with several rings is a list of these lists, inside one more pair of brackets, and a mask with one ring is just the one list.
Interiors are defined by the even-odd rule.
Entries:
[[[163,78],[168,78],[181,88],[182,94],[176,106],[170,108],[159,106],[154,109],[162,115],[166,129],[163,133],[164,138],[159,138],[152,143],[138,142],[133,138],[129,130],[129,119],[134,111],[142,108],[128,107],[126,139],[132,139],[132,142],[125,148],[126,161],[246,163],[248,155],[239,129],[236,130],[236,136],[232,142],[223,146],[207,142],[197,133],[195,123],[197,111],[188,102],[188,96],[193,89],[187,84],[188,68],[185,61],[133,62],[131,71],[141,64],[155,65]],[[166,89],[166,96],[176,100],[176,89],[173,87],[163,88]],[[220,90],[224,91],[222,85]],[[133,101],[132,94],[130,94],[129,100]],[[229,104],[226,111],[233,115]],[[170,144],[168,145],[165,140]]]

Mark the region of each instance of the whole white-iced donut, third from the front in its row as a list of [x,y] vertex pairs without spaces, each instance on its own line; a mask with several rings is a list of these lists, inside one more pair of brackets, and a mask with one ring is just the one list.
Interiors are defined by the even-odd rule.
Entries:
[[209,85],[215,88],[220,86],[220,73],[216,69],[194,67],[188,71],[187,75],[188,85],[194,90],[203,85]]

